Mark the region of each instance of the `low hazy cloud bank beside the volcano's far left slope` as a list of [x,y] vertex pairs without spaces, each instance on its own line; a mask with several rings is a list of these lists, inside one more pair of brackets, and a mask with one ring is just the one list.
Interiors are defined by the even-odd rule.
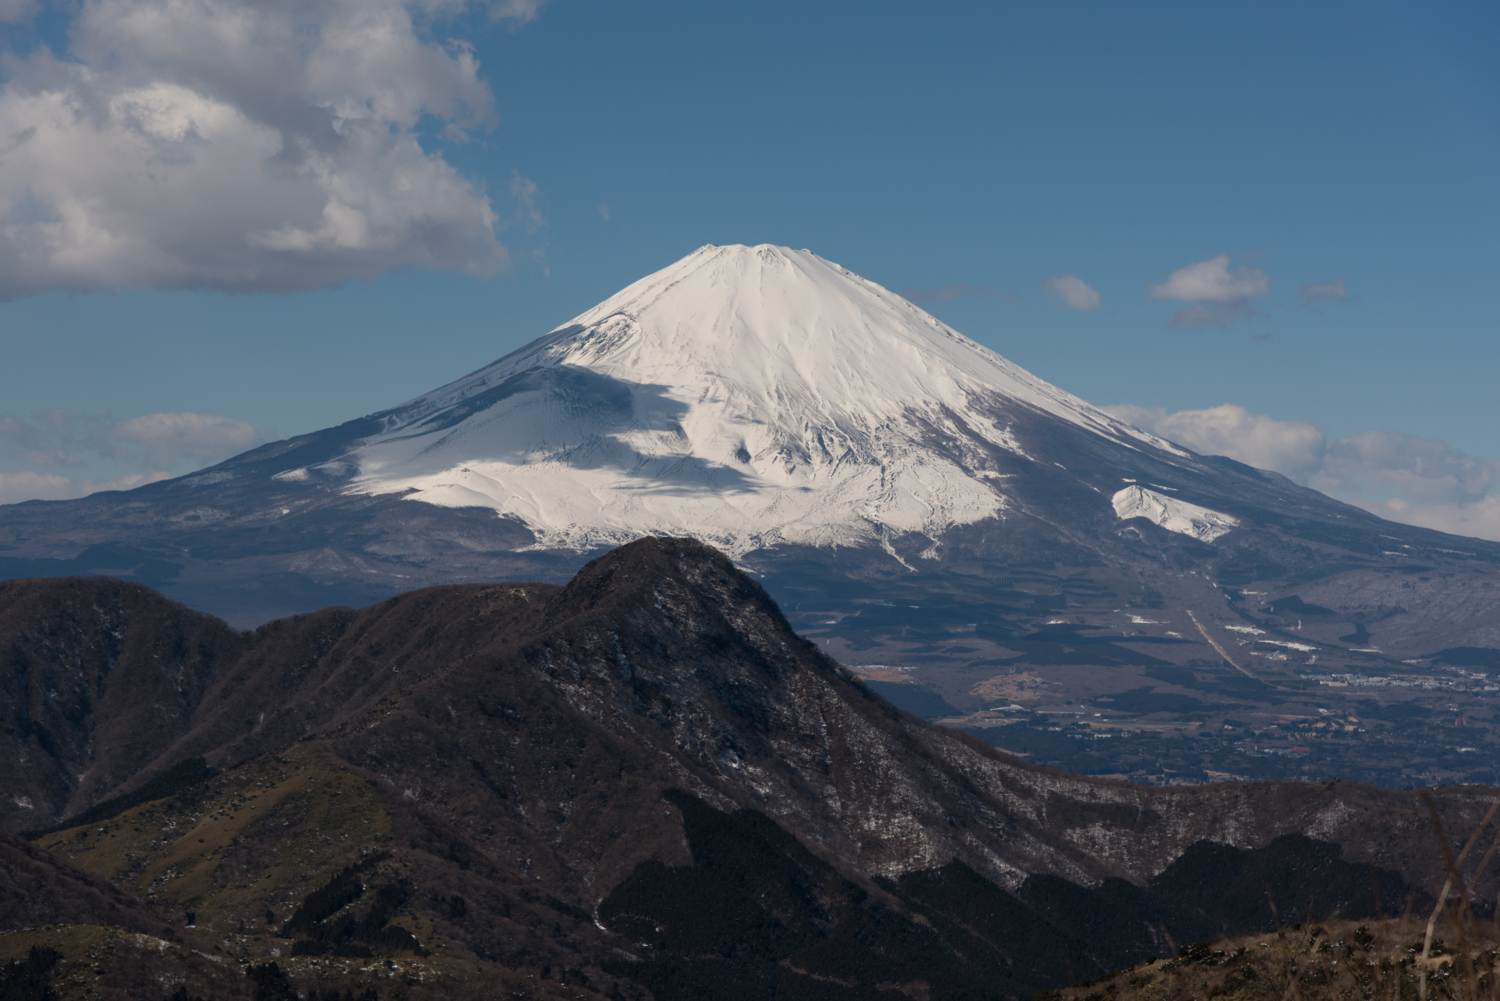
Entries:
[[204,465],[226,459],[262,441],[266,437],[254,425],[214,414],[153,413],[117,420],[48,410],[30,416],[0,416],[0,456],[44,468],[110,459],[152,470],[140,473],[150,476],[182,464]]

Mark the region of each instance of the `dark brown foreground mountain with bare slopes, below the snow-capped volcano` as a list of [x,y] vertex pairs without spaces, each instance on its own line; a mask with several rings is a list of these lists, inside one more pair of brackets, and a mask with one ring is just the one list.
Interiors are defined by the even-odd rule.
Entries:
[[[34,612],[0,635],[0,657],[27,665],[8,710],[51,705],[48,690],[75,702],[45,732],[27,708],[4,767],[46,780],[15,786],[30,807],[0,803],[6,825],[52,825],[204,758],[216,774],[38,843],[246,953],[285,956],[296,942],[272,932],[358,864],[368,899],[296,932],[298,948],[400,951],[411,935],[474,969],[592,971],[658,998],[918,980],[1030,996],[1161,954],[1162,927],[1244,927],[1260,882],[1282,893],[1278,873],[1338,887],[1353,917],[1376,902],[1350,872],[1378,869],[1396,911],[1442,867],[1410,791],[1143,788],[926,725],[690,540],[624,546],[562,588],[434,588],[255,633],[135,585],[8,587]],[[110,701],[117,678],[140,698]],[[171,726],[126,729],[117,710]],[[64,788],[114,758],[141,764]],[[1448,830],[1466,834],[1491,795],[1440,791]],[[1242,893],[1190,891],[1226,873]]]

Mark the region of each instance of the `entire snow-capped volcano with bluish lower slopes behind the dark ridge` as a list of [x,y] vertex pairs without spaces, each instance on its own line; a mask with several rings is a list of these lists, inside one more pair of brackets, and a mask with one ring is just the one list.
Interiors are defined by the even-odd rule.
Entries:
[[[1119,708],[1142,672],[1188,698],[1228,683],[1209,669],[1288,690],[1500,668],[1500,545],[1196,455],[778,246],[700,248],[399,407],[0,507],[0,576],[134,576],[254,626],[562,581],[648,534],[728,552],[802,635],[926,680],[938,711]],[[1048,665],[1096,690],[1000,680]]]

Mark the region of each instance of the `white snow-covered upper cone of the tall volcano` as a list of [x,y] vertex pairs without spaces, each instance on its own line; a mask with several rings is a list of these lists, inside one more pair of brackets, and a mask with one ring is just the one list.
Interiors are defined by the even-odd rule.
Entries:
[[1185,455],[810,251],[705,246],[382,414],[339,462],[354,491],[492,507],[543,548],[744,555],[1002,516],[992,456],[1028,455],[1018,410]]

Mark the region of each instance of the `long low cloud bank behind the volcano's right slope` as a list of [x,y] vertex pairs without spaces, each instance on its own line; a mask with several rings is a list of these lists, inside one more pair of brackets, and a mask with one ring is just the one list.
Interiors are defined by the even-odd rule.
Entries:
[[1382,518],[1500,540],[1500,462],[1434,438],[1362,431],[1328,438],[1316,425],[1252,414],[1222,404],[1168,413],[1161,407],[1106,407],[1137,428],[1202,455],[1226,455],[1274,470]]

